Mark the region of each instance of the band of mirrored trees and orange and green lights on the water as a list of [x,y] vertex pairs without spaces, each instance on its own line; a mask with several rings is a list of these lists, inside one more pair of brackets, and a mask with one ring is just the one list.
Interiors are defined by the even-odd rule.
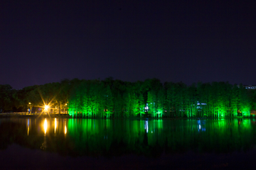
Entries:
[[252,149],[255,136],[255,120],[250,119],[0,119],[1,149],[15,142],[68,155],[234,152]]

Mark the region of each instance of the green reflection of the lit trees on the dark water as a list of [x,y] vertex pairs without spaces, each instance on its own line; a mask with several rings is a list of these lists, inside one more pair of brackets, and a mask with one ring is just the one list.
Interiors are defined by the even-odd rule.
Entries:
[[67,128],[67,139],[71,142],[68,147],[68,143],[64,146],[72,148],[78,155],[84,151],[88,154],[103,154],[117,147],[138,154],[150,153],[155,147],[159,149],[168,147],[171,152],[191,149],[196,152],[204,150],[232,152],[235,149],[240,150],[242,146],[252,146],[252,143],[255,143],[253,139],[256,133],[250,119],[201,121],[69,119]]

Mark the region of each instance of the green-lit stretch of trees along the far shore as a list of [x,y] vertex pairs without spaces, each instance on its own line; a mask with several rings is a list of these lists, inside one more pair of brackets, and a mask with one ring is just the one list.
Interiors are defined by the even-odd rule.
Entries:
[[[242,87],[223,82],[213,84],[169,84],[166,89],[157,85],[146,90],[127,85],[119,90],[113,84],[100,81],[82,82],[68,99],[68,113],[83,118],[130,117],[250,117],[249,94]],[[255,93],[256,94],[256,93]],[[145,106],[148,109],[145,111]]]

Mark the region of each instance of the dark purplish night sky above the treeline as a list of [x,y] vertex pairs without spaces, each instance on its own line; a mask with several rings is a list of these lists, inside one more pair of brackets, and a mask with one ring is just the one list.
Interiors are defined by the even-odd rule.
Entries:
[[1,1],[0,84],[256,84],[255,1]]

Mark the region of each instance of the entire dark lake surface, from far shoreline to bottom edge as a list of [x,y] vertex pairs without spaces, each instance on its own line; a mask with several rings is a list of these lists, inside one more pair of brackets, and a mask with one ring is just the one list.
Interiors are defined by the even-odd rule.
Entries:
[[1,169],[251,169],[255,119],[0,118]]

